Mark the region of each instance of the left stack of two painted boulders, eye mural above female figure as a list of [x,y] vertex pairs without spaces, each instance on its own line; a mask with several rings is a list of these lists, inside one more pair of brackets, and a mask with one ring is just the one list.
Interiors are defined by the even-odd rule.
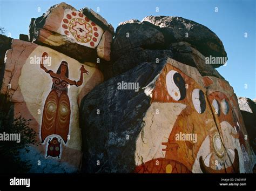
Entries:
[[97,60],[110,60],[113,28],[91,9],[60,3],[31,19],[28,36],[3,47],[1,78],[14,117],[29,120],[40,142],[21,158],[30,160],[32,173],[78,172],[80,101],[103,81]]

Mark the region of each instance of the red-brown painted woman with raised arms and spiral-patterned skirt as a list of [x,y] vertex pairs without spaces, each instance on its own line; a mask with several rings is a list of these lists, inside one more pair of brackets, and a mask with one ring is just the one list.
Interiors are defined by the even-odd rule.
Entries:
[[68,96],[68,85],[76,85],[77,87],[83,84],[83,73],[89,74],[84,66],[80,67],[80,79],[78,81],[69,79],[68,63],[62,61],[57,72],[46,69],[43,65],[44,59],[48,57],[48,53],[42,54],[40,67],[52,77],[52,88],[46,98],[43,111],[43,120],[41,126],[41,139],[44,142],[45,138],[52,134],[57,134],[64,140],[65,144],[68,141],[69,124],[70,124],[70,101]]

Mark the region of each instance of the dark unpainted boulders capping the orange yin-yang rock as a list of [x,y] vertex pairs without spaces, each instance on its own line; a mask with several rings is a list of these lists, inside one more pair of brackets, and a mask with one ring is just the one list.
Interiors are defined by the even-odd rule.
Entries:
[[[188,35],[186,34],[188,32]],[[221,40],[208,28],[180,17],[145,17],[120,23],[112,43],[113,76],[143,62],[170,57],[196,67],[202,76],[220,76],[206,57],[226,57]],[[210,59],[210,58],[209,58]]]

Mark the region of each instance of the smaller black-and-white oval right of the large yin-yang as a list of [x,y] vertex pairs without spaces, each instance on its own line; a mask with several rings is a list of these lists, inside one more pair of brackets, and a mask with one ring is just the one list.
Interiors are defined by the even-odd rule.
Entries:
[[205,95],[200,89],[194,89],[192,92],[192,102],[198,113],[204,113],[206,108]]

